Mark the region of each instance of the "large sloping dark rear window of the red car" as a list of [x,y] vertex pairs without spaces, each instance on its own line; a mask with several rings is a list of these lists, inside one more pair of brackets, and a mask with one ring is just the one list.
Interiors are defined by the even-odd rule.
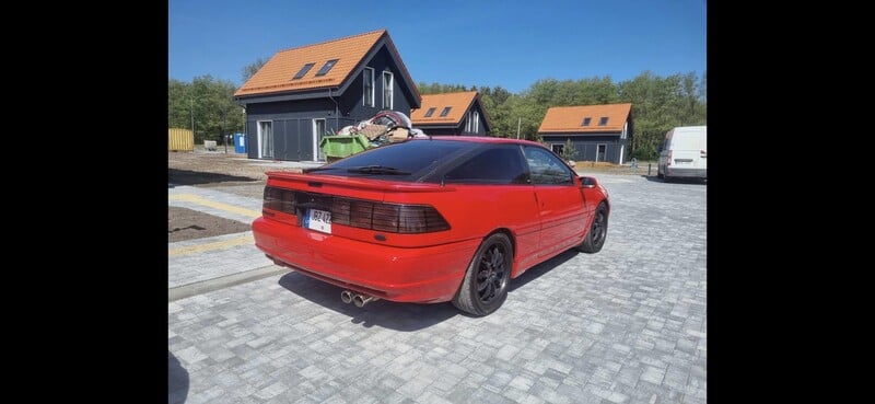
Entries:
[[[477,147],[476,143],[446,140],[408,140],[371,149],[343,160],[310,170],[313,174],[368,176],[390,178],[393,181],[417,181],[422,174],[438,164],[452,160],[466,150]],[[383,166],[408,172],[407,175],[351,173],[349,169],[362,166]],[[428,170],[427,170],[428,169]]]

